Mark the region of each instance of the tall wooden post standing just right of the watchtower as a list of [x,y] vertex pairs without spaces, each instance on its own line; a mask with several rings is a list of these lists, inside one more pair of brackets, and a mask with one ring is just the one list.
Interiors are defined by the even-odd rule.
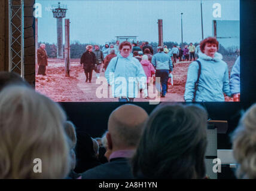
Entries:
[[65,76],[69,76],[70,67],[70,38],[69,19],[65,19]]

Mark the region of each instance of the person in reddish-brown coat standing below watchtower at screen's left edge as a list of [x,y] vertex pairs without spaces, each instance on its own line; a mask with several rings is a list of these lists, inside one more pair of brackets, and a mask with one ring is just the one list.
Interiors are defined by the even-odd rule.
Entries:
[[45,70],[48,66],[48,56],[45,51],[45,44],[40,44],[40,48],[37,50],[37,60],[38,60],[38,75],[46,75]]

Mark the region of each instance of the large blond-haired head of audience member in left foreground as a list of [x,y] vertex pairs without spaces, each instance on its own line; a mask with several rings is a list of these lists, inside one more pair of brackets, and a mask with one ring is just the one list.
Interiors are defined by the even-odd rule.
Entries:
[[0,93],[0,178],[65,178],[70,170],[66,115],[32,88]]

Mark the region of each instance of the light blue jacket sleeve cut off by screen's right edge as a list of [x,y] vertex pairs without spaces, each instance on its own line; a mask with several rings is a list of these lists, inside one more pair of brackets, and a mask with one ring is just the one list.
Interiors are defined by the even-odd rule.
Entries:
[[240,93],[240,56],[236,59],[230,74],[231,94]]

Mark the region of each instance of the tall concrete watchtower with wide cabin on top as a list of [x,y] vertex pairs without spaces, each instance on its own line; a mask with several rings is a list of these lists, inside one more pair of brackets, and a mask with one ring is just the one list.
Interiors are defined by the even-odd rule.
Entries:
[[57,58],[63,58],[63,29],[62,19],[66,17],[67,5],[51,5],[53,17],[57,19]]

